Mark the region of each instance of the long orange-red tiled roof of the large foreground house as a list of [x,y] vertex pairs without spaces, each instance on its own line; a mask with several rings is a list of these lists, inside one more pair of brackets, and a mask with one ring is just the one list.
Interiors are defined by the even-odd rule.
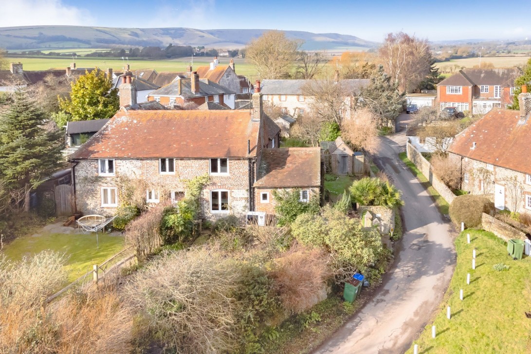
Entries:
[[120,109],[71,159],[254,157],[259,125],[249,110]]

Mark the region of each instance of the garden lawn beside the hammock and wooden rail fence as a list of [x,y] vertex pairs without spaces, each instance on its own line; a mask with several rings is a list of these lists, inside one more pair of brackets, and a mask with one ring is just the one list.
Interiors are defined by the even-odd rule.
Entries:
[[98,233],[98,239],[99,249],[96,247],[96,234],[51,233],[36,237],[25,236],[4,245],[3,252],[7,258],[15,261],[45,249],[64,252],[68,257],[65,265],[68,280],[74,281],[90,271],[93,265],[103,263],[124,247],[123,236]]

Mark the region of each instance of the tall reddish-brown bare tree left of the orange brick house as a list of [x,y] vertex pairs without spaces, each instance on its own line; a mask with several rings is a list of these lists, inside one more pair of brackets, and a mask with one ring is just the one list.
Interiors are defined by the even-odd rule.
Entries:
[[414,90],[430,73],[430,46],[427,39],[407,33],[389,33],[379,49],[380,58],[400,90]]

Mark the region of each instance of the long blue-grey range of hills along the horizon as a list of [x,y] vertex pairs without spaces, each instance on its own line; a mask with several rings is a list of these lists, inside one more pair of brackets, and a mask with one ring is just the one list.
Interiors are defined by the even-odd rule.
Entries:
[[[264,29],[193,28],[110,28],[82,26],[21,26],[0,27],[0,47],[6,49],[37,48],[105,48],[174,45],[211,48],[242,48]],[[338,33],[285,31],[289,38],[303,39],[304,49],[370,48],[377,43]]]

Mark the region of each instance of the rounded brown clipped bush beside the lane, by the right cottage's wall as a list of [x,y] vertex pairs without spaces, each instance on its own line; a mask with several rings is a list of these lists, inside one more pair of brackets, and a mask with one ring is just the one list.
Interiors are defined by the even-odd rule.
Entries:
[[453,199],[450,204],[450,218],[460,227],[461,222],[465,227],[481,225],[481,214],[489,214],[493,210],[492,202],[484,196],[464,195]]

